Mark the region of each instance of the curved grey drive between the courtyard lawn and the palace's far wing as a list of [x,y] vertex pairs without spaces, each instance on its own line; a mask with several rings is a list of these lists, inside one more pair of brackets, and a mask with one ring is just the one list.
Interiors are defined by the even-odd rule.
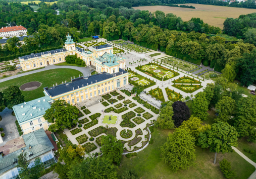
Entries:
[[[10,79],[15,79],[15,78],[18,78],[18,77],[21,77],[21,76],[26,76],[26,75],[37,73],[37,72],[40,72],[40,71],[46,71],[46,70],[49,70],[49,69],[58,69],[58,68],[76,69],[76,70],[80,71],[81,73],[83,73],[84,76],[88,76],[92,71],[94,71],[94,69],[92,69],[89,66],[78,67],[78,66],[56,66],[56,65],[49,65],[49,66],[45,66],[44,68],[41,68],[41,69],[36,69],[36,70],[33,70],[33,71],[24,72],[24,73],[21,73],[21,74],[17,74],[17,75],[6,77],[4,79],[0,79],[0,82],[8,81]],[[90,71],[90,69],[92,69],[92,71]]]

